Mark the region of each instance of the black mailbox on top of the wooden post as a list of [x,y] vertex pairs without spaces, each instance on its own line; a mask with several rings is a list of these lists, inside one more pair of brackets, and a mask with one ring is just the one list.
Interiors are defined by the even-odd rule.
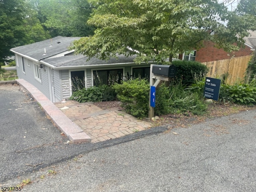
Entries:
[[175,77],[176,66],[174,65],[153,65],[152,73],[158,76]]

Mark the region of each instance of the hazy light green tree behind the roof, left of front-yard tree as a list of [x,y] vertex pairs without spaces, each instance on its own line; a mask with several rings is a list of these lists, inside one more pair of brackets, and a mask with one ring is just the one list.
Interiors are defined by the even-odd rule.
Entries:
[[86,0],[30,0],[38,19],[52,36],[88,36],[95,28],[87,24],[94,8]]

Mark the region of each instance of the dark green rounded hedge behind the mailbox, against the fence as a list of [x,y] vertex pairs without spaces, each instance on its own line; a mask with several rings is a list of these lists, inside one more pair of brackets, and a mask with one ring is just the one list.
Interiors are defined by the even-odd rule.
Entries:
[[176,66],[176,78],[178,82],[182,81],[182,84],[191,85],[194,83],[194,76],[206,75],[209,69],[202,63],[196,61],[172,61],[172,64]]

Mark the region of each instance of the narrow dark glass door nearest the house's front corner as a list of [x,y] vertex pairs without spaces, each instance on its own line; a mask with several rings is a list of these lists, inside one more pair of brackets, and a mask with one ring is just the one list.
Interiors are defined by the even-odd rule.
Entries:
[[72,92],[84,88],[84,71],[71,71]]

